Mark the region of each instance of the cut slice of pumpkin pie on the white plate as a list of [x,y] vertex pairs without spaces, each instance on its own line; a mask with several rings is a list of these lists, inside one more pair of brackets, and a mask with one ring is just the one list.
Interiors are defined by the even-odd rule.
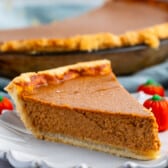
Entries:
[[108,60],[24,73],[5,89],[39,139],[142,160],[159,155],[153,114],[121,86]]

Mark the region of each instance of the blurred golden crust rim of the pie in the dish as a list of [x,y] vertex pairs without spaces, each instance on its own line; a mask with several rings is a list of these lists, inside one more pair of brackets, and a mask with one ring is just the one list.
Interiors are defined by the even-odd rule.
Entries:
[[168,23],[148,27],[144,30],[130,31],[121,35],[108,32],[77,35],[70,38],[41,38],[31,40],[7,41],[0,44],[0,52],[70,52],[95,51],[117,47],[146,44],[158,48],[160,40],[168,38]]

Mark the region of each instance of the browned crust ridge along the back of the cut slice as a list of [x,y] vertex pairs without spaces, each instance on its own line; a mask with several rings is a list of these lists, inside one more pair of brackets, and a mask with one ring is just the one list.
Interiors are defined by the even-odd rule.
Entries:
[[[80,76],[106,75],[111,72],[111,63],[109,60],[97,60],[80,62],[74,65],[63,66],[55,69],[49,69],[39,72],[22,73],[14,78],[5,88],[6,91],[12,90],[17,85],[20,88],[33,89],[50,83],[61,83],[66,80],[75,79]],[[115,76],[113,76],[115,79]]]

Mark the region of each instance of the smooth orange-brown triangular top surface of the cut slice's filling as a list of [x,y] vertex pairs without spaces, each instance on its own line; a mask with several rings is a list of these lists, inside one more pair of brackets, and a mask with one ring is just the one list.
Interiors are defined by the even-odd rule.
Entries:
[[59,85],[39,87],[23,97],[75,109],[150,116],[151,113],[144,110],[112,77],[80,77]]

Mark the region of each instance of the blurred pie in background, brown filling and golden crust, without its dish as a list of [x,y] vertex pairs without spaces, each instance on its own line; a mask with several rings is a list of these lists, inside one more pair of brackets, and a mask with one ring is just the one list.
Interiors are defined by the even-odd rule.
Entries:
[[[142,43],[158,47],[159,39],[168,38],[167,27],[168,3],[109,0],[104,6],[77,18],[0,31],[0,51],[96,50]],[[4,43],[12,40],[21,41]]]

